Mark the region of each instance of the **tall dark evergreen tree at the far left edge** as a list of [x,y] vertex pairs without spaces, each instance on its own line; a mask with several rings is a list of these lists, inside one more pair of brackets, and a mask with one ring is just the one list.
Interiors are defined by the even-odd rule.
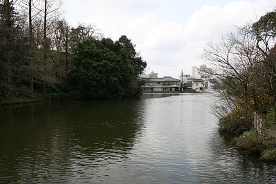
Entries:
[[[12,96],[19,69],[22,33],[14,1],[0,1],[0,85],[3,96]],[[18,50],[19,49],[19,50]]]

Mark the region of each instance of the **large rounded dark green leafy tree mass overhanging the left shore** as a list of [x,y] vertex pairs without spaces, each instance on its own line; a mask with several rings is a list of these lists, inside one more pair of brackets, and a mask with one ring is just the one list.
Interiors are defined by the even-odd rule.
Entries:
[[[128,48],[121,43],[128,41]],[[136,57],[130,39],[122,36],[115,43],[111,39],[87,39],[79,44],[75,69],[68,74],[70,89],[78,90],[83,98],[114,98],[133,96],[139,90],[137,76],[146,67]],[[135,70],[139,66],[141,70]]]

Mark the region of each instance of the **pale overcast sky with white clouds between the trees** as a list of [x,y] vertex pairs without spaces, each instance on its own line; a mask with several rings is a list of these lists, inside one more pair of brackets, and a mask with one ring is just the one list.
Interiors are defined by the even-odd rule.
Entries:
[[254,22],[274,10],[276,0],[66,0],[70,25],[92,23],[104,37],[126,35],[147,61],[147,72],[179,78],[191,74],[206,43],[218,41],[233,25]]

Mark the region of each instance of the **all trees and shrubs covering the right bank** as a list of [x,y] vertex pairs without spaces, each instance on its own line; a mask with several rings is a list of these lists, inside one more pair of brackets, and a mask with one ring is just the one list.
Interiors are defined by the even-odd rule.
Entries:
[[[213,110],[220,131],[236,134],[240,150],[276,161],[276,10],[208,43],[202,58],[219,81]],[[253,130],[253,112],[264,119],[263,135]]]

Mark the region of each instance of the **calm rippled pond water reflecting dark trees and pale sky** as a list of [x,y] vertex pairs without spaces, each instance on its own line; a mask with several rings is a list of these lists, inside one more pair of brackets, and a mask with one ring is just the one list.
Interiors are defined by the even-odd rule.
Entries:
[[219,136],[211,97],[0,108],[0,183],[276,183]]

